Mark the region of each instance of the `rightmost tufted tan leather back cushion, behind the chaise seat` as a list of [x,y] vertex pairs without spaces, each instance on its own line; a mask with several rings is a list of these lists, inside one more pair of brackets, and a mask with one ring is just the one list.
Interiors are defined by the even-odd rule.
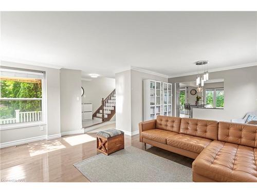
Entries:
[[257,148],[257,126],[218,122],[218,141]]

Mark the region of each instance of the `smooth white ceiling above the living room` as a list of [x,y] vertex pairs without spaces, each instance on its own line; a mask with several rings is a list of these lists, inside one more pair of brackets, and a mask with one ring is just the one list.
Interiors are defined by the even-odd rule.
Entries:
[[1,12],[2,60],[114,77],[256,65],[256,12]]

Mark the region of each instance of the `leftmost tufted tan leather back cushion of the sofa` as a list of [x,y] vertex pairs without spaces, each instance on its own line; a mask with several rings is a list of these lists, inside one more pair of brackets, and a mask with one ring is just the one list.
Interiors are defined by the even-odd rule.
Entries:
[[163,129],[179,133],[180,121],[180,117],[158,115],[156,119],[156,129]]

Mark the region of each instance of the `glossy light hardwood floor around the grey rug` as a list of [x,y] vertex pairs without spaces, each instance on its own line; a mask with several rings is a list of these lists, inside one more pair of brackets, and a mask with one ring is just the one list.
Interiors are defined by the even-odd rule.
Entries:
[[[139,135],[125,135],[125,147],[143,149]],[[166,159],[192,166],[192,159],[147,145],[146,151]],[[38,141],[21,147],[2,148],[1,181],[25,182],[89,182],[72,164],[97,153],[96,133],[68,135],[50,141]]]

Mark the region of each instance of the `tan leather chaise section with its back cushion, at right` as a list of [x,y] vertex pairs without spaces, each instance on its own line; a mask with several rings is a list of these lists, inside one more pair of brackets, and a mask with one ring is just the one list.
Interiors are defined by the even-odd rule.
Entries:
[[219,122],[192,168],[194,182],[257,182],[257,126]]

